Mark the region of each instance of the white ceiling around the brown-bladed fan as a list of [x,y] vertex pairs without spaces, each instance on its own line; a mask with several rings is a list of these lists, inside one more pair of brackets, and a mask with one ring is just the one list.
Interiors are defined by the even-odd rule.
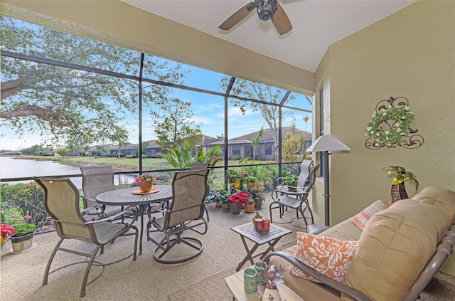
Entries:
[[283,35],[253,10],[230,31],[225,19],[253,0],[122,0],[257,53],[315,72],[332,43],[416,0],[279,0],[293,29]]

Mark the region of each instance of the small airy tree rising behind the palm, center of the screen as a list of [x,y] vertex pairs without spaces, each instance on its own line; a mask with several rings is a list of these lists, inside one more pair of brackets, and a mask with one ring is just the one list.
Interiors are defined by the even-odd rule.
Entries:
[[202,133],[200,126],[191,121],[193,112],[191,102],[174,98],[168,102],[168,116],[162,122],[156,122],[155,133],[161,149],[174,149],[184,141],[195,147]]

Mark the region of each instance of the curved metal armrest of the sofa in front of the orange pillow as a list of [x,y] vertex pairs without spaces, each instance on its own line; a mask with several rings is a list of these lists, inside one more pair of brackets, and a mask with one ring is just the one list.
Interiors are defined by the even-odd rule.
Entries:
[[267,254],[264,257],[264,261],[268,262],[272,256],[279,256],[281,258],[284,258],[285,260],[289,261],[289,263],[292,263],[297,268],[303,270],[305,273],[307,273],[311,277],[321,281],[324,285],[327,285],[328,287],[331,287],[331,288],[333,288],[333,290],[337,290],[338,292],[343,292],[343,294],[346,294],[349,297],[352,297],[354,300],[372,301],[369,297],[364,295],[363,292],[355,290],[355,288],[353,288],[353,287],[345,285],[342,282],[338,282],[336,280],[333,280],[332,278],[327,277],[326,275],[319,273],[318,271],[314,270],[313,268],[310,268],[308,265],[305,265],[304,263],[302,263],[300,260],[297,260],[293,255],[290,255],[289,253],[285,253],[283,251],[274,251],[272,253]]

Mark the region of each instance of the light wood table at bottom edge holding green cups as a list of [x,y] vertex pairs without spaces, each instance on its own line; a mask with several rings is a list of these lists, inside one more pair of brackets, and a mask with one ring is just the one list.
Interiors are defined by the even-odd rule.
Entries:
[[[265,290],[265,285],[257,285],[257,291],[259,293],[247,294],[245,290],[243,290],[243,270],[225,278],[225,282],[226,285],[228,285],[233,300],[259,301],[259,294],[262,295]],[[282,297],[282,300],[304,301],[284,283],[277,285],[277,289],[279,291],[279,295]]]

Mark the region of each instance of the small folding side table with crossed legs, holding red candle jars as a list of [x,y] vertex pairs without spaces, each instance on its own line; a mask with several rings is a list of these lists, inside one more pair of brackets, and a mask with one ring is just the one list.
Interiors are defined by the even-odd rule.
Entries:
[[[235,226],[230,229],[240,234],[243,246],[245,246],[245,250],[247,250],[247,255],[245,256],[245,258],[243,258],[243,260],[235,269],[237,271],[240,270],[240,268],[242,268],[242,266],[245,265],[245,263],[247,263],[248,260],[250,260],[250,263],[254,265],[255,262],[253,261],[253,258],[259,255],[261,255],[259,259],[262,260],[262,258],[264,258],[265,255],[267,255],[267,253],[274,251],[274,245],[276,245],[283,236],[292,232],[287,228],[276,226],[273,223],[270,223],[270,231],[268,232],[264,231],[257,232],[255,229],[255,225],[253,225],[252,222],[244,223],[243,225]],[[248,238],[250,241],[253,241],[255,243],[251,250],[250,248],[248,248],[247,241],[245,241],[245,238]],[[257,248],[259,248],[259,245],[263,245],[264,243],[268,243],[269,248],[267,248],[267,250],[264,250],[264,252],[253,255]]]

